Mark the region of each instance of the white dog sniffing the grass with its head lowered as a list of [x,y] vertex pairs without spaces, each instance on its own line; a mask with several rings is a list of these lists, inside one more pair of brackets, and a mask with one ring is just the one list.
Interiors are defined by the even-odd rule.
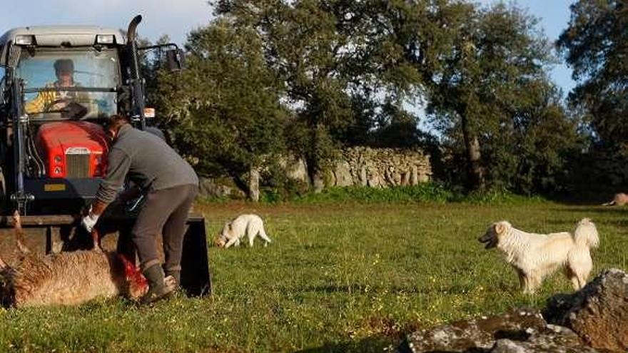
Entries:
[[270,242],[270,237],[264,231],[264,224],[258,215],[239,215],[235,220],[226,222],[223,230],[216,239],[218,247],[230,247],[240,245],[240,239],[248,237],[248,245],[253,246],[253,239],[259,235],[265,241],[264,246]]

